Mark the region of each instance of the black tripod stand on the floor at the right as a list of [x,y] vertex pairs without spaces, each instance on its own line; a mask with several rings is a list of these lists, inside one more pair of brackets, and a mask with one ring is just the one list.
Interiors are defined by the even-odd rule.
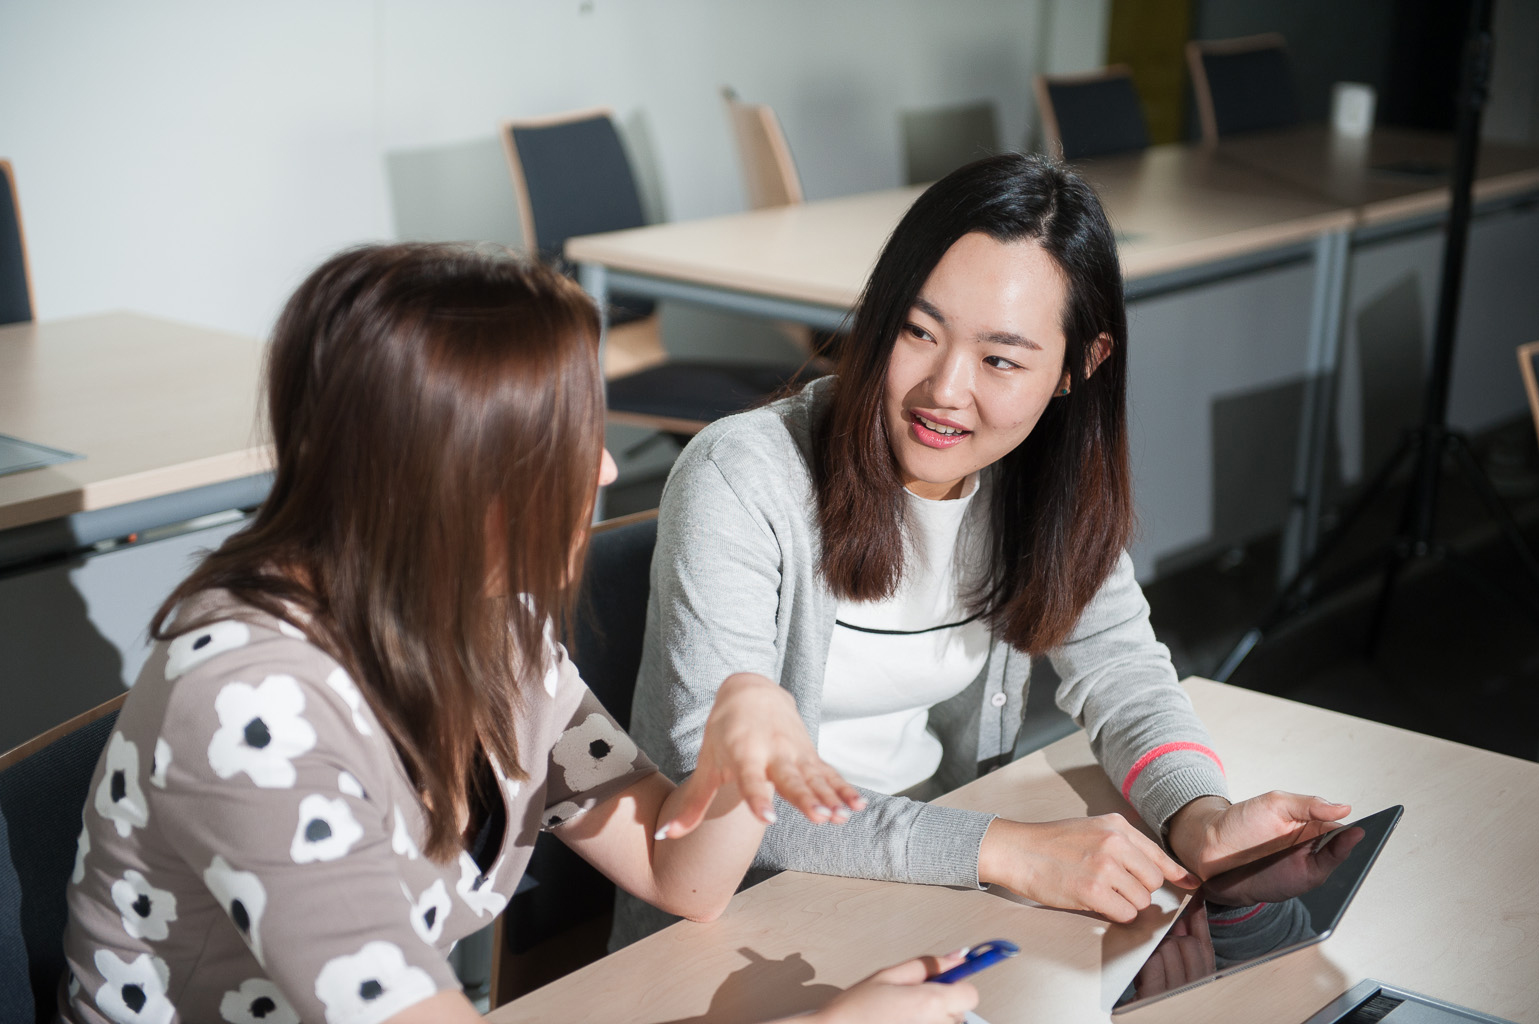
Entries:
[[1437,487],[1442,477],[1444,457],[1451,454],[1470,484],[1485,502],[1502,534],[1516,550],[1519,562],[1534,587],[1534,594],[1519,594],[1517,604],[1539,622],[1539,559],[1524,542],[1517,524],[1485,477],[1479,462],[1470,451],[1465,436],[1448,427],[1448,383],[1453,373],[1454,323],[1459,314],[1459,288],[1464,282],[1464,251],[1470,236],[1471,186],[1474,183],[1474,159],[1481,143],[1481,111],[1485,106],[1487,83],[1491,68],[1491,0],[1474,0],[1470,11],[1470,31],[1465,37],[1464,72],[1459,83],[1459,128],[1453,166],[1453,205],[1448,209],[1448,236],[1444,243],[1442,286],[1437,296],[1437,333],[1433,343],[1431,373],[1427,382],[1427,402],[1420,425],[1410,431],[1390,460],[1374,474],[1362,496],[1342,516],[1336,533],[1324,542],[1282,588],[1276,604],[1262,621],[1247,630],[1239,644],[1219,665],[1214,678],[1228,681],[1245,656],[1265,636],[1293,616],[1299,614],[1314,590],[1314,576],[1325,557],[1340,544],[1362,513],[1384,493],[1390,480],[1408,462],[1414,462],[1416,476],[1400,513],[1399,531],[1376,554],[1374,562],[1384,565],[1384,584],[1368,625],[1368,650],[1377,648],[1385,614],[1394,596],[1394,585],[1405,568],[1419,559],[1434,557],[1454,567],[1476,588],[1505,604],[1504,594],[1468,564],[1457,551],[1439,544],[1433,536],[1437,513]]

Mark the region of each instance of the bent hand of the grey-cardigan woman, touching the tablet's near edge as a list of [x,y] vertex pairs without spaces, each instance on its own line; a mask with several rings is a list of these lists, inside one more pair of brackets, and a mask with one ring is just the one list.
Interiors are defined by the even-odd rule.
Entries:
[[1185,888],[1199,884],[1122,815],[1042,822],[996,818],[983,833],[977,875],[983,884],[1047,907],[1090,910],[1123,924],[1167,881]]

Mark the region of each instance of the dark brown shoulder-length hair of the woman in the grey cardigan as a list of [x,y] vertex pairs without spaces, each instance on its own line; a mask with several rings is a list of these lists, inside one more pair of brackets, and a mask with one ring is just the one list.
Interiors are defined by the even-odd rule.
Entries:
[[[813,448],[820,568],[836,594],[854,601],[888,597],[900,582],[903,497],[882,416],[886,366],[936,263],[974,231],[1036,242],[1068,282],[1070,394],[1053,399],[999,460],[988,574],[970,594],[997,636],[1040,653],[1068,637],[1133,531],[1128,322],[1116,242],[1094,191],[1048,160],[1007,154],[951,172],[914,202],[882,249]],[[1087,354],[1102,334],[1111,351],[1087,379]]]

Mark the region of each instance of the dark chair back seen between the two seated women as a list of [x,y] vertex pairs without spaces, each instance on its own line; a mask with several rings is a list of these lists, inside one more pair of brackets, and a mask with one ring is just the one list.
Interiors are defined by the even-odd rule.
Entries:
[[[642,665],[656,544],[656,516],[609,528],[600,525],[583,570],[571,656],[583,682],[622,725],[631,722],[636,673]],[[614,882],[548,833],[534,844],[525,872],[525,881],[531,879],[536,884],[512,898],[505,916],[503,938],[512,953],[523,953],[614,905]]]

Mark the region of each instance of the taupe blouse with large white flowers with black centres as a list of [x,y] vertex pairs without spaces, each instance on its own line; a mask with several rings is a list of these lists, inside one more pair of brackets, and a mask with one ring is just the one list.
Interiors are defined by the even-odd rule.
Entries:
[[[528,778],[449,864],[357,684],[229,594],[157,644],[97,764],[69,885],[66,1022],[376,1024],[457,989],[446,955],[508,904],[540,830],[656,771],[560,645],[528,687]],[[186,621],[192,621],[188,617]]]

